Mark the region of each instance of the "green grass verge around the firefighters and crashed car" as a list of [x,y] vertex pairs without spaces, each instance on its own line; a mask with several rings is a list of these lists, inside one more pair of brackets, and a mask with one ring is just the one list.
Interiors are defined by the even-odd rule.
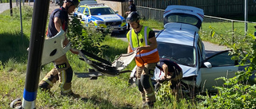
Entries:
[[[26,7],[24,7],[26,8]],[[15,9],[15,8],[14,8]],[[11,101],[17,98],[22,98],[22,93],[26,78],[26,61],[27,51],[29,45],[30,28],[31,28],[31,13],[30,7],[26,8],[23,16],[24,37],[21,38],[19,34],[20,24],[17,16],[10,17],[8,10],[0,14],[0,25],[5,25],[0,28],[0,108],[9,108]],[[18,10],[14,10],[14,14],[19,14]],[[153,29],[162,29],[162,23],[158,21],[141,21],[142,25],[148,25]],[[222,26],[220,26],[222,25]],[[227,23],[203,23],[202,37],[210,36],[209,26],[216,29],[230,28]],[[249,27],[252,25],[250,24]],[[238,25],[236,30],[242,33],[242,24]],[[237,27],[236,27],[237,28]],[[203,32],[202,32],[203,31]],[[241,31],[241,32],[240,32]],[[253,29],[250,28],[250,33]],[[205,38],[207,40],[207,38]],[[210,39],[210,38],[209,38]],[[126,53],[127,42],[115,39],[114,37],[107,37],[104,42],[110,45],[110,49],[104,53],[106,59],[114,60],[116,56],[121,53]],[[118,45],[117,45],[118,44]],[[88,71],[88,64],[78,59],[78,56],[68,52],[68,59],[74,72]],[[130,64],[127,69],[134,68],[134,62]],[[42,80],[46,73],[53,68],[53,64],[46,64],[42,66],[40,78]],[[89,80],[85,78],[78,78],[73,76],[72,89],[82,97],[79,99],[69,98],[60,95],[58,84],[51,88],[54,97],[48,93],[38,90],[36,99],[37,108],[139,108],[142,105],[140,93],[136,87],[128,87],[129,73],[121,74],[120,76],[102,76],[98,80]],[[161,94],[157,95],[158,97]],[[155,103],[154,108],[206,108],[202,103],[190,99],[180,99],[177,101],[174,96],[170,99],[164,99],[166,102]]]

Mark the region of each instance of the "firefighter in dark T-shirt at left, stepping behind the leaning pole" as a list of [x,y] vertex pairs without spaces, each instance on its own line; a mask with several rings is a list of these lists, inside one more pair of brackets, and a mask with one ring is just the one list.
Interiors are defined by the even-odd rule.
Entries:
[[[78,0],[65,0],[61,8],[55,9],[50,14],[48,29],[46,32],[47,38],[54,37],[61,28],[66,32],[69,21],[68,14],[73,13],[78,4]],[[63,45],[67,45],[68,43],[69,41],[66,38],[65,41],[63,41]],[[75,52],[72,49],[70,49],[70,52],[78,54],[78,52]],[[39,88],[43,91],[50,91],[50,88],[60,80],[61,95],[79,97],[79,95],[74,94],[71,90],[72,77],[73,70],[65,54],[54,60],[54,68],[41,80]]]

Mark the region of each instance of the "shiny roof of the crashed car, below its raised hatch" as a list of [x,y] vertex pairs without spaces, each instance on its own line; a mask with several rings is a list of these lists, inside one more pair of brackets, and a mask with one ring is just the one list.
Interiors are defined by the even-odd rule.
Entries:
[[194,46],[195,32],[189,29],[163,29],[157,36],[157,41],[178,45]]

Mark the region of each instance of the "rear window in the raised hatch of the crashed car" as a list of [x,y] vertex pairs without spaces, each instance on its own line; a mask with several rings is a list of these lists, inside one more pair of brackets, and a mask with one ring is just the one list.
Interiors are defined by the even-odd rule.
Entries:
[[178,23],[195,25],[198,27],[198,29],[201,27],[201,24],[202,24],[202,21],[198,17],[191,14],[180,14],[180,13],[167,15],[164,18],[164,25],[168,22],[178,22]]

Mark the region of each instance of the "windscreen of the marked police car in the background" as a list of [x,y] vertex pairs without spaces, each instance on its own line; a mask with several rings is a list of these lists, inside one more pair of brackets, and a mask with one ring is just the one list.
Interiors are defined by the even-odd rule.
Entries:
[[94,9],[90,9],[90,14],[91,15],[105,15],[105,14],[115,14],[114,10],[110,9],[110,8],[94,8]]

